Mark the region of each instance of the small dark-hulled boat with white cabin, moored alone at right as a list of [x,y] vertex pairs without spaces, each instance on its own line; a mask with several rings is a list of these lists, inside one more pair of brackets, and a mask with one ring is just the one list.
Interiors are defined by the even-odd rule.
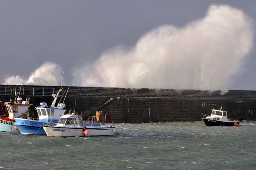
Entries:
[[239,120],[228,118],[227,111],[212,109],[211,116],[202,114],[202,119],[206,126],[238,126]]

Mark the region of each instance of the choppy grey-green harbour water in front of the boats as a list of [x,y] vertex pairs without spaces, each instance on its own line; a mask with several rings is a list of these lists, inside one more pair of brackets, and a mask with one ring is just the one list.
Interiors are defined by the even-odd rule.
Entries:
[[119,136],[0,132],[0,170],[255,170],[256,122],[115,124]]

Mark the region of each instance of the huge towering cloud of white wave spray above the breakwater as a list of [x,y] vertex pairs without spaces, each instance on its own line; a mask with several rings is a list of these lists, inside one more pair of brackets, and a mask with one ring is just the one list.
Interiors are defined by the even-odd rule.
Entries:
[[210,6],[184,28],[161,26],[129,51],[116,47],[73,71],[81,86],[227,90],[252,48],[252,23],[243,11]]

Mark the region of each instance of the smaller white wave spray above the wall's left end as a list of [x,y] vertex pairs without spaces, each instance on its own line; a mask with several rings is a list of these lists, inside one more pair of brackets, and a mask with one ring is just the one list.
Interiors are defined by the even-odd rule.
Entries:
[[[37,68],[29,79],[23,80],[23,85],[61,85],[62,68],[53,62],[44,62]],[[9,76],[6,77],[4,84],[20,85],[22,77]]]

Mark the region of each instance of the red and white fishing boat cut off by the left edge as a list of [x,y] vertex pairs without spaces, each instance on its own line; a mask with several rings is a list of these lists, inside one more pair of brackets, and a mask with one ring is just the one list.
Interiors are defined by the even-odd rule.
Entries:
[[0,131],[19,132],[14,127],[15,118],[26,116],[31,119],[35,106],[29,104],[29,98],[26,98],[26,101],[22,101],[22,98],[17,98],[17,94],[15,94],[15,101],[12,102],[12,99],[10,99],[10,102],[5,102],[1,108],[3,115],[0,115]]

